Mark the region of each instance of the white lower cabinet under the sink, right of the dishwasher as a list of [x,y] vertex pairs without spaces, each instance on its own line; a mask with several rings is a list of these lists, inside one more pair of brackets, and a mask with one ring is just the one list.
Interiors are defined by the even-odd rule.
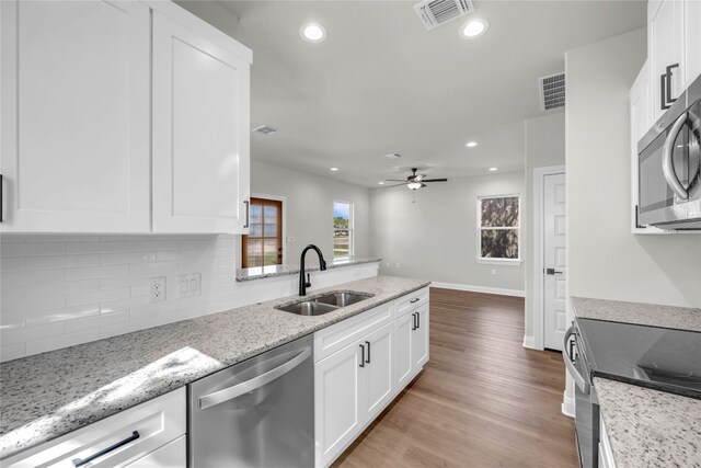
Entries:
[[318,331],[317,466],[331,465],[427,361],[428,288]]

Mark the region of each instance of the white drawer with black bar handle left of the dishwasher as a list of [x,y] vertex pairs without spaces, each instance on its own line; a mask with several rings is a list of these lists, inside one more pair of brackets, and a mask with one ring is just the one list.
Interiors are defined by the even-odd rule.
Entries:
[[123,443],[84,466],[126,467],[185,434],[185,410],[183,387],[4,459],[2,466],[74,468],[76,459]]

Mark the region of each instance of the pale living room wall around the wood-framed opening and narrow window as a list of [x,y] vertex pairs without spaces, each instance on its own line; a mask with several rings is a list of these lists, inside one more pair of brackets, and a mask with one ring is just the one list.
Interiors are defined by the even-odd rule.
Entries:
[[370,253],[369,189],[261,161],[251,161],[251,193],[285,197],[287,263],[299,263],[304,246],[333,258],[333,201],[354,204],[356,256]]

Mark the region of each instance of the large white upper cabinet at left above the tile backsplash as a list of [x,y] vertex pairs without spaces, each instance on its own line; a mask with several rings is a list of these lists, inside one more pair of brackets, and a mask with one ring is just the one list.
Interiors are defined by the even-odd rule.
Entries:
[[245,233],[250,49],[164,1],[0,21],[3,232]]

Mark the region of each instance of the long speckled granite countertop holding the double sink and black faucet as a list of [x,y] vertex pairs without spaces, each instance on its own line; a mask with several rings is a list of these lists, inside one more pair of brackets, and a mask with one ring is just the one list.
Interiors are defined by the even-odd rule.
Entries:
[[429,282],[376,276],[314,290],[374,297],[319,317],[289,296],[0,364],[0,457],[64,435],[371,309]]

